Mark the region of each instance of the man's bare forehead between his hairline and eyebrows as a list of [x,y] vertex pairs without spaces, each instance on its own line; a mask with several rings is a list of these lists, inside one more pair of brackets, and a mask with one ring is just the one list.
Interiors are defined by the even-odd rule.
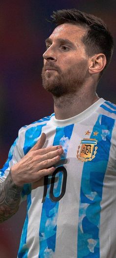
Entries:
[[87,30],[75,24],[61,24],[55,28],[49,38],[57,39],[58,37],[67,38],[69,40],[81,40],[82,37],[86,34]]

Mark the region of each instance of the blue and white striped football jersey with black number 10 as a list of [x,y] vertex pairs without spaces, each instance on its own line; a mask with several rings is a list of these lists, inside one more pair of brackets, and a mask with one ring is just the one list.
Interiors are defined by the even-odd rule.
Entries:
[[61,144],[64,154],[52,175],[24,185],[18,258],[116,258],[116,105],[100,98],[75,117],[21,128],[1,182],[42,132],[44,147]]

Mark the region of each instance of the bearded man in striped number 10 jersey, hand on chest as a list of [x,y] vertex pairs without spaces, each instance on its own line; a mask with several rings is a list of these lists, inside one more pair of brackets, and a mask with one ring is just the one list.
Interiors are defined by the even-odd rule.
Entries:
[[116,105],[96,94],[113,37],[76,9],[52,18],[42,79],[55,114],[20,129],[1,170],[0,221],[27,197],[19,258],[115,258]]

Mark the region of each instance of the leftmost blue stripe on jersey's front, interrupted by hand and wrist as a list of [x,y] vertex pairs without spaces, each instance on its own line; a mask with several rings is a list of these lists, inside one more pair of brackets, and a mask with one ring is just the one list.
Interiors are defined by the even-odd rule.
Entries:
[[[29,152],[29,150],[37,142],[38,137],[41,135],[41,130],[42,130],[43,126],[46,126],[46,124],[31,127],[29,129],[27,129],[27,131],[25,133],[25,143],[24,143],[24,148],[23,148],[25,155]],[[24,224],[23,231],[22,231],[20,247],[19,247],[19,252],[18,252],[18,258],[28,258],[29,249],[27,247],[26,242],[27,242],[27,232],[28,232],[28,223],[29,223],[28,213],[29,213],[29,207],[31,205],[31,194],[30,194],[30,192],[31,192],[31,184],[24,185],[24,188],[23,188],[23,191],[22,191],[22,197],[24,195],[27,195],[28,209],[27,209],[27,216],[26,216],[25,224]]]

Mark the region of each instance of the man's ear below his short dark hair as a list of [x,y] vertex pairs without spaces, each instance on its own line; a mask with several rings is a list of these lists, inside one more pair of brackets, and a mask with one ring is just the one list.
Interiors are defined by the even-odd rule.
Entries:
[[89,73],[100,73],[106,65],[106,56],[104,54],[96,54],[90,58]]

